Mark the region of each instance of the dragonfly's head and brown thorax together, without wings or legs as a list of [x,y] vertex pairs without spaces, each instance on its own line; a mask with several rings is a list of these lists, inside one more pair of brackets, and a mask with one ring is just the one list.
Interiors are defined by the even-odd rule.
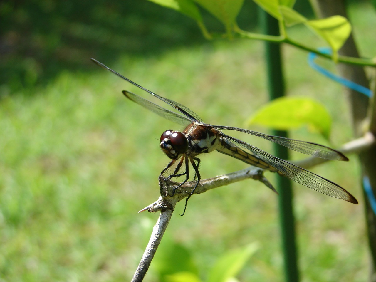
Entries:
[[170,159],[179,159],[182,154],[194,157],[217,149],[221,143],[219,134],[210,126],[191,123],[183,132],[166,130],[161,135],[160,147]]

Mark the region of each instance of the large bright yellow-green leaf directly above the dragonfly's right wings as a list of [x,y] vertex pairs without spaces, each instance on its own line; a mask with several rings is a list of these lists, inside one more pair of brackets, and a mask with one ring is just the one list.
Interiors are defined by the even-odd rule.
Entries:
[[321,103],[299,97],[274,99],[259,109],[249,120],[249,124],[259,124],[278,130],[296,129],[307,125],[327,139],[331,123],[331,116]]

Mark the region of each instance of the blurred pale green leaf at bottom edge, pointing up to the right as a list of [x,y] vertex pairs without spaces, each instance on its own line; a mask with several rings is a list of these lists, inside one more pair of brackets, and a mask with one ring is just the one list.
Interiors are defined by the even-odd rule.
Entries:
[[226,282],[235,277],[258,248],[258,243],[251,243],[225,253],[210,270],[208,282]]

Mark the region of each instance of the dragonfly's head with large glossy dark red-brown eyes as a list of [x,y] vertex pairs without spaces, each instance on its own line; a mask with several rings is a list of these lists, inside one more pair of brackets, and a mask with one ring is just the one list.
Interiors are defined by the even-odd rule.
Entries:
[[160,147],[168,158],[178,159],[188,151],[188,139],[183,133],[169,129],[161,135]]

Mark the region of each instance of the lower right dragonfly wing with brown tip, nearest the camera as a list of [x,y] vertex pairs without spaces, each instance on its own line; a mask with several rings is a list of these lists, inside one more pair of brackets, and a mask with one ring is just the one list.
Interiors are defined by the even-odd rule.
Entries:
[[223,133],[221,135],[223,136],[223,138],[231,140],[230,142],[232,142],[233,144],[250,150],[256,156],[258,156],[258,158],[262,159],[264,162],[274,167],[281,174],[287,176],[297,183],[312,188],[328,196],[343,199],[354,204],[358,203],[354,196],[352,196],[341,186],[337,185],[334,182],[331,182],[330,180],[314,174],[311,171],[305,170],[304,168],[298,167],[297,165],[291,164],[290,162],[287,162],[283,159],[279,159],[276,156],[270,155],[269,153],[264,152],[263,150],[258,149],[257,147],[236,139],[232,136],[228,136]]

